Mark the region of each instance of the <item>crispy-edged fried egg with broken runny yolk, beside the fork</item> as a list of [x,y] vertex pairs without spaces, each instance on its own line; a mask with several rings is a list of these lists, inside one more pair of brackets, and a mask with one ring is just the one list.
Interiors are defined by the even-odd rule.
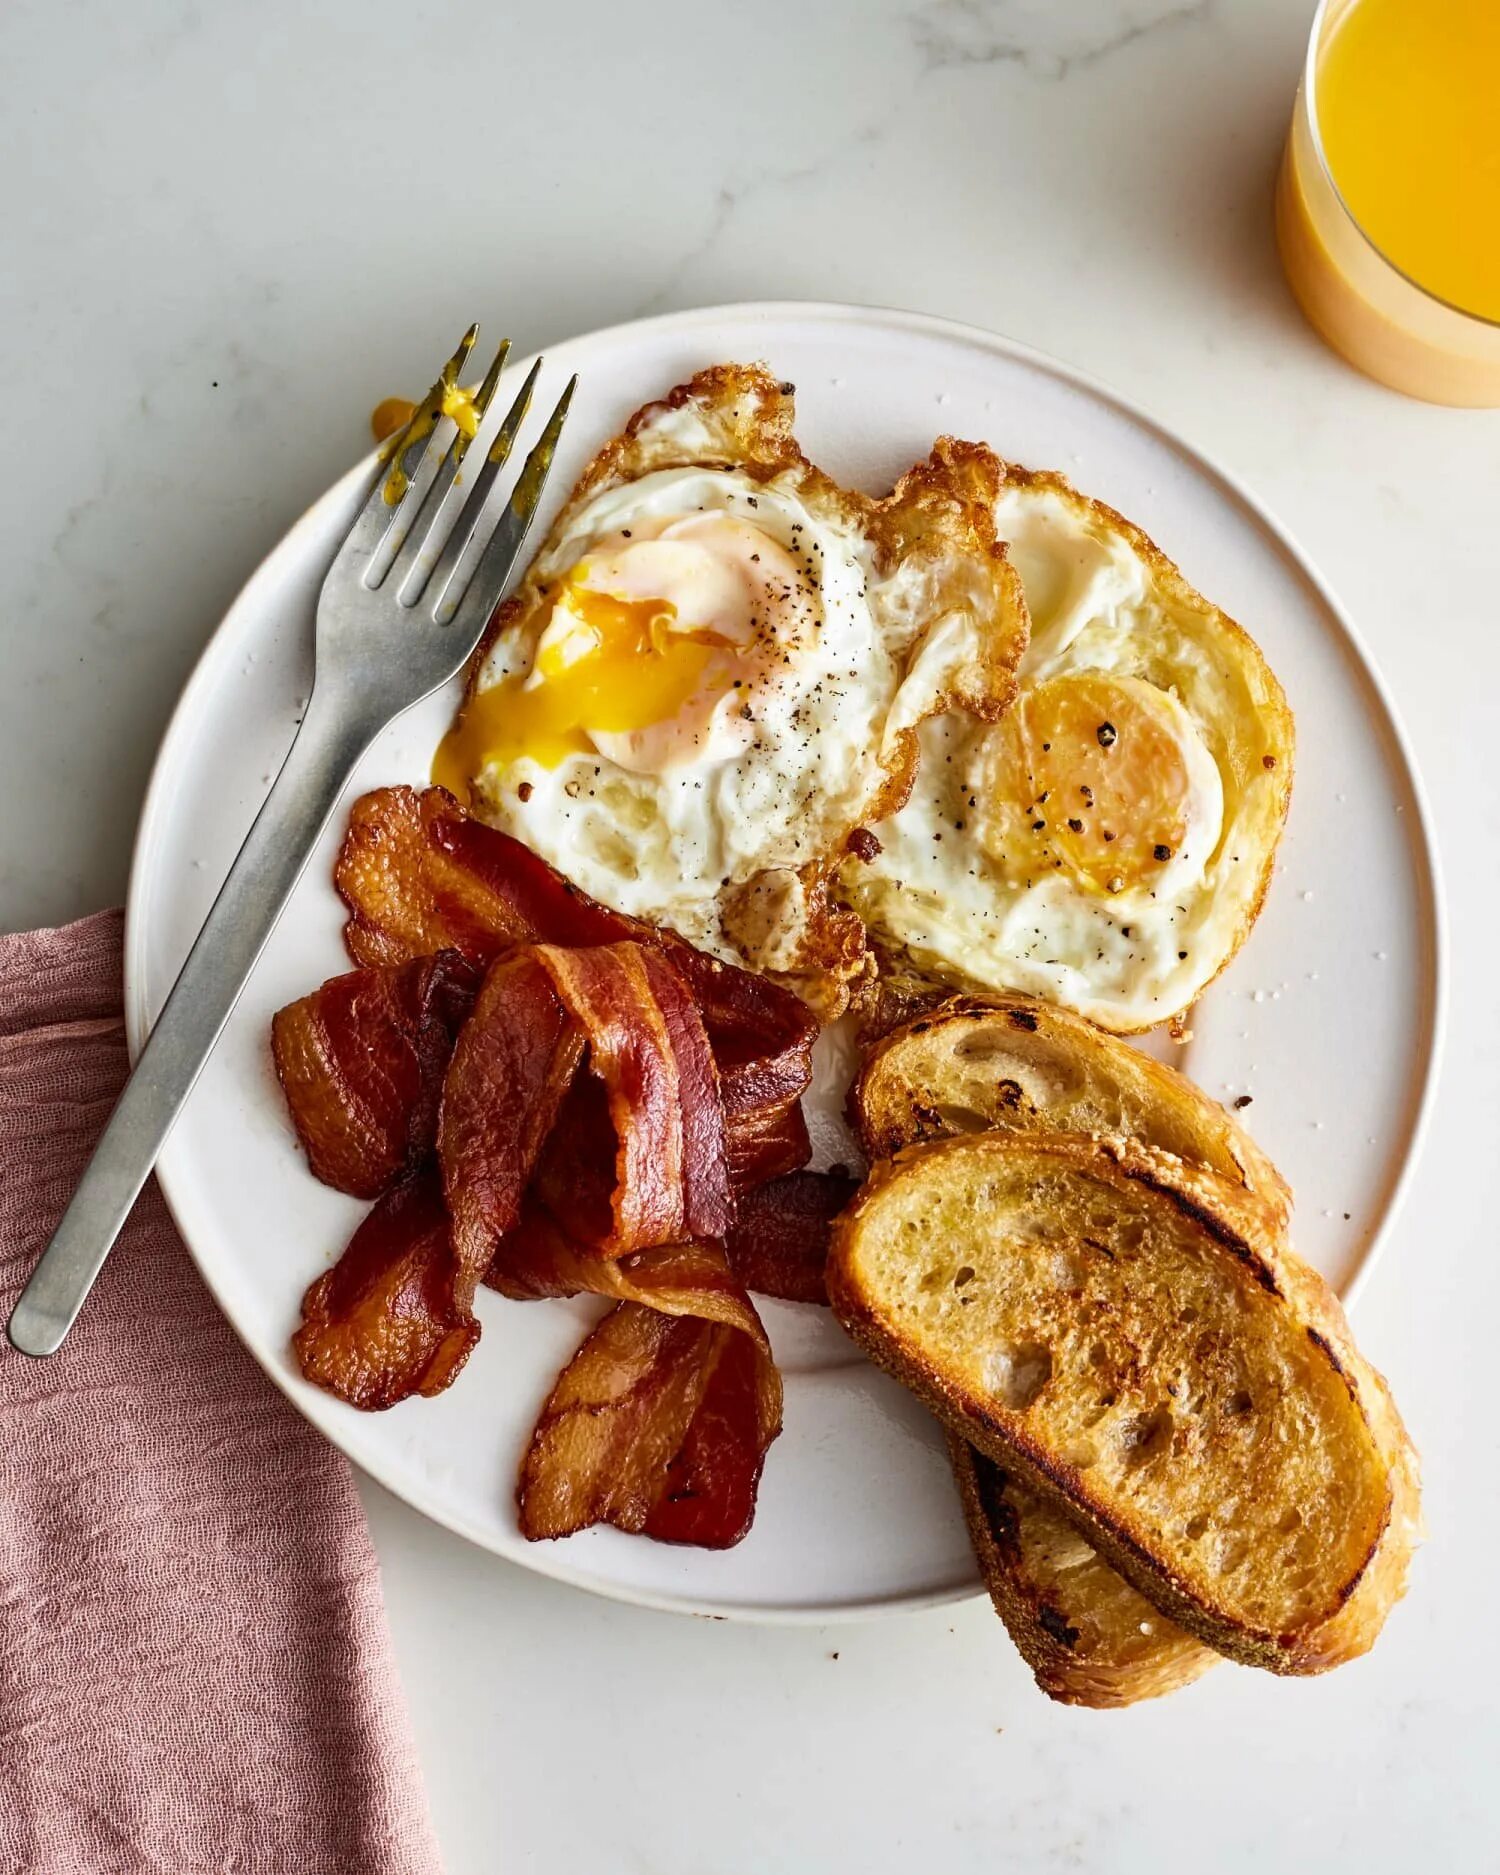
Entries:
[[791,414],[791,386],[718,366],[630,420],[497,613],[433,778],[827,1012],[866,969],[827,879],[906,799],[926,716],[1003,714],[1026,609],[988,450],[939,444],[874,501]]

